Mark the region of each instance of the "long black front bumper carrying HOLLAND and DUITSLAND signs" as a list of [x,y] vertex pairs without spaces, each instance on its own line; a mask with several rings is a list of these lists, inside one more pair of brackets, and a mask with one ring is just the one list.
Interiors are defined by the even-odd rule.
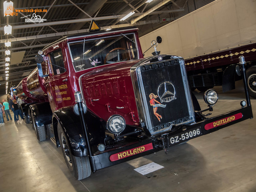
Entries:
[[212,118],[207,118],[192,125],[184,125],[175,132],[168,132],[162,136],[147,138],[129,146],[96,154],[92,156],[92,162],[94,164],[95,171],[100,170],[102,168],[160,151],[164,148],[163,143],[166,144],[163,140],[167,141],[167,147],[174,146],[249,118],[253,118],[251,106]]

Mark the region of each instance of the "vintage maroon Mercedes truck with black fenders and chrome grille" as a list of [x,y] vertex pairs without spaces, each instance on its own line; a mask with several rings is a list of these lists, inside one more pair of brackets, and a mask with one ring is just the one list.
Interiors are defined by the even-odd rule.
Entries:
[[[62,148],[78,180],[253,117],[246,81],[241,108],[204,114],[218,94],[208,90],[201,110],[184,59],[156,50],[143,58],[137,31],[66,36],[39,52],[38,68],[17,86],[26,122]],[[242,58],[238,68],[245,78]]]

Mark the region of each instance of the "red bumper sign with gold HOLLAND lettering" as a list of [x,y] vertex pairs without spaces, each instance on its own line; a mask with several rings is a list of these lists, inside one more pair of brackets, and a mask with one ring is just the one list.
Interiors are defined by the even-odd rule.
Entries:
[[136,147],[136,148],[133,148],[130,150],[126,150],[126,151],[123,151],[120,153],[112,154],[109,159],[110,159],[110,161],[113,162],[113,161],[117,161],[117,160],[129,157],[129,156],[133,156],[133,155],[151,150],[151,149],[153,149],[153,145],[152,145],[152,143],[149,143],[149,144],[146,144],[146,145],[143,145],[140,147]]

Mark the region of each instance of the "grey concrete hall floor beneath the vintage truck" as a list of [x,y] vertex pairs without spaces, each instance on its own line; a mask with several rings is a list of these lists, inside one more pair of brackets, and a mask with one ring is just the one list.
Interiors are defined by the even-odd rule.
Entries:
[[[214,114],[240,108],[242,90],[222,94]],[[202,93],[201,107],[206,107]],[[256,100],[252,100],[256,116]],[[30,124],[0,126],[0,192],[255,192],[256,119],[246,120],[75,180],[60,148],[50,140],[38,142]],[[141,175],[134,168],[155,162],[164,168]]]

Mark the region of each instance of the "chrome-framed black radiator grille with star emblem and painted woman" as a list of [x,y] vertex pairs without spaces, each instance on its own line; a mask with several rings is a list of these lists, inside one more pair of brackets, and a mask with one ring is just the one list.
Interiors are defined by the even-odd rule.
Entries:
[[[146,126],[152,135],[173,125],[194,122],[194,110],[182,58],[136,68]],[[138,106],[139,107],[139,106]]]

